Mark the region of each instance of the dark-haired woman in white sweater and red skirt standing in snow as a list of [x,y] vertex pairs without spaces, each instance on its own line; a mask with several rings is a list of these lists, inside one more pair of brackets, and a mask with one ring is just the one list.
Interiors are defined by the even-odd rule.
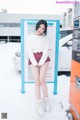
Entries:
[[[29,57],[29,65],[35,79],[35,94],[37,100],[36,110],[40,116],[44,115],[44,111],[50,111],[48,88],[46,85],[45,75],[49,65],[48,40],[47,40],[47,22],[40,20],[36,24],[35,33],[28,36],[27,52]],[[43,99],[41,99],[41,89]]]

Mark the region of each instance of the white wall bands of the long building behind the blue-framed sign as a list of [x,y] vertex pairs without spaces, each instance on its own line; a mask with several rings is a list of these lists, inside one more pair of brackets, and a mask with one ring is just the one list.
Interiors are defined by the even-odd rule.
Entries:
[[[61,15],[0,13],[0,23],[20,23],[21,19],[60,20],[62,24]],[[0,36],[20,36],[20,27],[0,27]]]

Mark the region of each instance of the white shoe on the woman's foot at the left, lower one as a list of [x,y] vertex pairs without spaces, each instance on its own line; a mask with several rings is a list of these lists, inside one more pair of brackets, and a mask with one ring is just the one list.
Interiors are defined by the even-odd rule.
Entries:
[[36,105],[36,111],[40,117],[44,116],[43,101],[38,100]]

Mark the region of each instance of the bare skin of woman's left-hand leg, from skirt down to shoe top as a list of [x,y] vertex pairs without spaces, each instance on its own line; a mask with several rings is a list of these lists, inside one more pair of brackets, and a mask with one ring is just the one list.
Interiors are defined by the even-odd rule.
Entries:
[[33,73],[33,77],[35,79],[35,94],[36,94],[36,99],[40,100],[41,99],[41,92],[40,92],[40,70],[38,66],[33,66],[31,65],[31,70]]

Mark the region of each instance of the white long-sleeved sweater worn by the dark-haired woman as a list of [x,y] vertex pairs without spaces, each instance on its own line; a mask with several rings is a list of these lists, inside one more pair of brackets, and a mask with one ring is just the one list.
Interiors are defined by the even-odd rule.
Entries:
[[[46,36],[39,36],[35,33],[31,33],[27,37],[27,53],[33,66],[43,65],[48,57],[48,39]],[[43,55],[37,63],[33,53],[43,52]]]

